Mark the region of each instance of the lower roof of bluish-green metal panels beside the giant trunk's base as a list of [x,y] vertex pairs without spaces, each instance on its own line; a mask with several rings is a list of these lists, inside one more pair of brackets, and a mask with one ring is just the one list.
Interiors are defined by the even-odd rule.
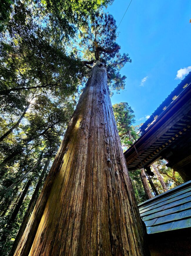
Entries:
[[191,227],[191,181],[138,205],[147,234]]

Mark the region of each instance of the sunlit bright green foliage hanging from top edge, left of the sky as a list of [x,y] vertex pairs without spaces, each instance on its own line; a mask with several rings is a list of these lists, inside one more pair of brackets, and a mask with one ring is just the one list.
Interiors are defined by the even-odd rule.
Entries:
[[[103,0],[41,0],[35,2],[35,12],[39,18],[43,17],[50,23],[56,35],[64,38],[73,36],[78,26],[85,25],[88,16],[101,5],[107,5],[112,1]],[[64,35],[63,35],[64,34]]]

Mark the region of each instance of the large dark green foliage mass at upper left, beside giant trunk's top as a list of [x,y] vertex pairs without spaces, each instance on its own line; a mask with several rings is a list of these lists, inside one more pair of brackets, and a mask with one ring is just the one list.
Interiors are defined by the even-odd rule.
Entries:
[[68,96],[83,76],[81,61],[53,40],[49,28],[36,25],[21,2],[14,6],[0,47],[0,94],[6,108],[20,109],[29,92],[44,88]]

